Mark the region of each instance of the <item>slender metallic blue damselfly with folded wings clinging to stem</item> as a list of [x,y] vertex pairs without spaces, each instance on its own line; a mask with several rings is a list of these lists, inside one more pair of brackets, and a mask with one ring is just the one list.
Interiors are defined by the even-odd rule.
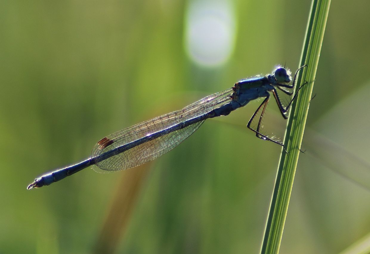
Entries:
[[[93,165],[97,172],[114,172],[139,166],[175,148],[196,131],[206,119],[228,115],[231,111],[257,98],[265,99],[250,118],[247,127],[255,132],[258,138],[283,145],[260,132],[262,117],[272,92],[283,118],[287,119],[286,113],[301,87],[285,107],[276,89],[289,96],[293,95],[293,92],[286,89],[294,88],[298,71],[305,66],[296,71],[292,84],[290,84],[292,81],[290,70],[277,67],[272,74],[240,80],[232,88],[209,95],[179,111],[158,116],[113,133],[94,146],[90,158],[38,177],[28,185],[27,189],[50,185],[90,165]],[[257,128],[253,129],[250,125],[261,109]]]

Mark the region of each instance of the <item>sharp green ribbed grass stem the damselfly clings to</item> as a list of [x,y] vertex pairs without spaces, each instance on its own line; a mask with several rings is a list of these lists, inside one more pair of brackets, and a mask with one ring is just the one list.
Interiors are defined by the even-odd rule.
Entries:
[[304,81],[308,84],[301,89],[290,112],[284,138],[287,153],[282,150],[261,253],[279,253],[329,7],[330,0],[312,1],[300,60],[300,66],[306,64],[307,67],[299,74],[296,88]]

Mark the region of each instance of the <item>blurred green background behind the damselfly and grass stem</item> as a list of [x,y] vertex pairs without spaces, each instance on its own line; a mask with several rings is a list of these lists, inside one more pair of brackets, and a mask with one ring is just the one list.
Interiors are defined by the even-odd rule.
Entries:
[[[1,1],[0,252],[258,253],[281,151],[245,128],[259,102],[146,165],[131,202],[120,197],[135,169],[26,187],[115,131],[277,64],[295,71],[309,8]],[[369,13],[367,1],[332,2],[280,253],[338,253],[370,233]],[[283,135],[273,101],[268,110]],[[127,223],[107,226],[120,209]]]

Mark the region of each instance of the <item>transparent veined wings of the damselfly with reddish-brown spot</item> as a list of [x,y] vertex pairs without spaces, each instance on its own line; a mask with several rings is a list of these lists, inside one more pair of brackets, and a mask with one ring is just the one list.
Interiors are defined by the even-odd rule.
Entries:
[[[113,133],[101,139],[94,146],[91,156],[99,156],[102,153],[108,152],[121,145],[148,136],[151,133],[165,130],[178,123],[206,114],[207,112],[230,102],[232,92],[233,91],[230,88],[225,91],[209,95],[193,104],[190,104],[189,106],[186,106],[182,110],[161,115],[127,129],[123,129],[122,131]],[[135,146],[122,153],[98,162],[93,166],[93,169],[97,172],[107,173],[128,169],[130,167],[139,166],[145,162],[149,162],[179,145],[179,143],[196,131],[203,122],[204,120],[186,126],[183,129],[164,134],[158,138],[148,140],[141,145]]]

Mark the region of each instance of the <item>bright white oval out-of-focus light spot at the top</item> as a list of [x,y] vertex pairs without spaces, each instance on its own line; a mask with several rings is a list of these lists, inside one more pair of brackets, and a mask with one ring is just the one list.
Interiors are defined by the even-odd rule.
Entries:
[[213,67],[234,48],[235,20],[229,1],[192,1],[185,17],[185,50],[192,61]]

